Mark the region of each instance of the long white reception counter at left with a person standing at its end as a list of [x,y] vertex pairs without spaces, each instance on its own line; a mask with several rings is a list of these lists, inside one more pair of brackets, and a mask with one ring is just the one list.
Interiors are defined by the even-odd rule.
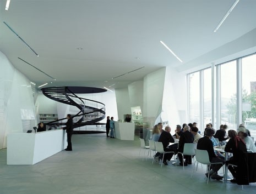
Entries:
[[32,165],[66,149],[66,130],[7,135],[7,164]]

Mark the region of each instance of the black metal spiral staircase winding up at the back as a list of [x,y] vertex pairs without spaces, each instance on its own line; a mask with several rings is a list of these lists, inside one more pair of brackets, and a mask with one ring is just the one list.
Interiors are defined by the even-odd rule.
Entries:
[[[78,108],[79,112],[72,115],[74,128],[82,127],[84,125],[97,125],[105,118],[105,104],[80,98],[74,94],[69,87],[48,87],[42,88],[42,93],[52,100],[72,105]],[[62,122],[66,118],[58,119],[56,121],[45,123],[46,125],[56,126],[64,125]]]

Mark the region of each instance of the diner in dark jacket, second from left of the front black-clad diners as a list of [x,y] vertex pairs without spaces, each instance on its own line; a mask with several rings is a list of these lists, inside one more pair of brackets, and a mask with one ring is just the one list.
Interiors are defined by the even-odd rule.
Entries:
[[[190,127],[186,125],[183,130],[184,130],[183,133],[181,134],[181,136],[179,136],[178,152],[183,152],[184,144],[194,142],[194,135],[190,133]],[[179,165],[183,166],[182,154],[178,153],[178,157],[180,161]],[[188,164],[192,164],[191,156],[184,155],[183,157],[185,159],[184,166],[188,166]]]

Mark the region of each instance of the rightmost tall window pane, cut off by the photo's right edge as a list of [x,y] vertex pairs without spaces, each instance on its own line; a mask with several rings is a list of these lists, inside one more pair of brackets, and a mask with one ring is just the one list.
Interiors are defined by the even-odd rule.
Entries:
[[256,55],[242,59],[242,122],[256,137]]

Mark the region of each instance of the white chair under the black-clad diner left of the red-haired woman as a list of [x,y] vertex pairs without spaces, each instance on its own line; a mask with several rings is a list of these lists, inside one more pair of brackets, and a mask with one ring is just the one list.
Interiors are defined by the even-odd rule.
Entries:
[[[198,167],[198,163],[208,165],[208,169],[207,169],[207,172],[208,172],[207,184],[209,182],[209,175],[210,175],[211,164],[223,164],[222,162],[210,162],[207,150],[195,149],[195,159],[197,160],[197,167]],[[223,174],[224,174],[223,166],[222,166],[222,169],[223,169]],[[194,170],[195,170],[195,165],[194,165],[191,177],[193,177]]]

